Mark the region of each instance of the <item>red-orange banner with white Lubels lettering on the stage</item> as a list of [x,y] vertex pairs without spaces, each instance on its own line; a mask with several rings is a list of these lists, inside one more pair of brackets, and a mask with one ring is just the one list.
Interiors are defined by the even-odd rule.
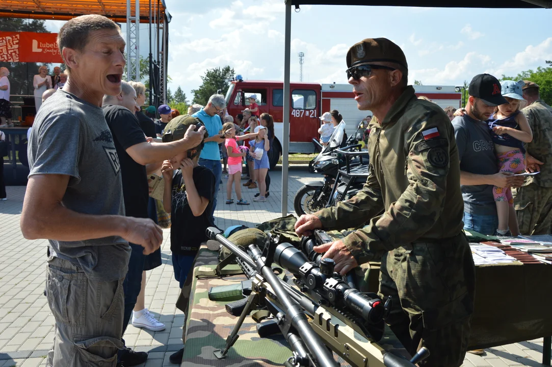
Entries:
[[0,61],[62,63],[57,33],[0,32]]

